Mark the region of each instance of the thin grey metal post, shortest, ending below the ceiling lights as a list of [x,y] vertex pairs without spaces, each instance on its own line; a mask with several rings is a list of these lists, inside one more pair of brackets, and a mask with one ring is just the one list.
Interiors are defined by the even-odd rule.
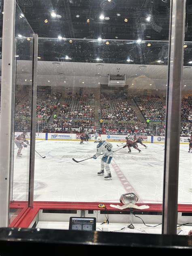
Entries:
[[38,35],[33,35],[33,64],[32,64],[32,111],[30,132],[30,169],[29,169],[29,207],[33,207],[34,197],[34,167],[35,167],[35,136],[36,136],[36,101],[37,101],[37,60]]

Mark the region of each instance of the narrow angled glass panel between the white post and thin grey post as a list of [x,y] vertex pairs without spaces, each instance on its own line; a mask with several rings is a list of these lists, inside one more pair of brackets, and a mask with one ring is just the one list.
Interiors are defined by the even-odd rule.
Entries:
[[15,143],[10,192],[10,224],[28,207],[33,30],[16,4],[15,11]]

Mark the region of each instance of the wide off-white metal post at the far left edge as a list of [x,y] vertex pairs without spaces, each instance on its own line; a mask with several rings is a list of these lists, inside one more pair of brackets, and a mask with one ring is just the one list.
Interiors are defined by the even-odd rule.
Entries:
[[15,36],[15,0],[4,1],[2,34],[2,83],[0,122],[0,227],[9,225],[9,183],[13,106],[13,53]]

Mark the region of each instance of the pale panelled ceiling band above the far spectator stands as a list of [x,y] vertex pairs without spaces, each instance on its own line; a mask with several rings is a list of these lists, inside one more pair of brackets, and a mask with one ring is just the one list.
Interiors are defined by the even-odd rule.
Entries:
[[[191,90],[192,68],[183,68],[183,91]],[[96,64],[38,61],[38,85],[97,88],[108,84],[108,74],[126,75],[130,89],[164,90],[167,66],[132,64]],[[31,85],[32,62],[17,61],[17,85]],[[186,85],[186,86],[184,86]],[[123,87],[122,87],[123,89]]]

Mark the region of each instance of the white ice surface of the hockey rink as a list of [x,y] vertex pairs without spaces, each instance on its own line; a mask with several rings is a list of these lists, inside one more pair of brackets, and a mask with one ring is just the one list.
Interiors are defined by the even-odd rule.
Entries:
[[[141,153],[132,148],[120,149],[112,142],[113,160],[110,164],[112,180],[98,176],[100,159],[85,160],[96,154],[93,141],[36,141],[34,201],[113,202],[126,192],[135,192],[139,203],[162,203],[163,192],[163,144],[146,143],[147,149],[138,144]],[[29,147],[23,148],[22,158],[16,158],[15,147],[13,200],[27,200]],[[106,172],[105,172],[106,174]],[[25,193],[25,192],[26,193]],[[178,203],[192,202],[192,154],[188,144],[180,145]]]

